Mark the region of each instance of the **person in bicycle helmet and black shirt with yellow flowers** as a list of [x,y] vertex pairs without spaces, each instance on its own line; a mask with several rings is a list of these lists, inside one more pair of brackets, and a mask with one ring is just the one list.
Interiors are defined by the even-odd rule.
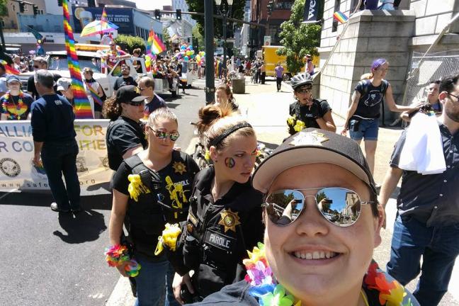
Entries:
[[292,78],[290,85],[296,100],[289,107],[290,118],[287,123],[290,135],[303,128],[320,128],[336,132],[327,100],[312,97],[312,76],[307,73],[297,74]]

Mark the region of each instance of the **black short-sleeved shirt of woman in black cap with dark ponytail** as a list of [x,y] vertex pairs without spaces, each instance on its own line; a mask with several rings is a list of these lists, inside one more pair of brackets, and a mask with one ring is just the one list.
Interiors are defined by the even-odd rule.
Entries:
[[142,145],[147,148],[148,142],[145,139],[145,132],[140,122],[120,116],[117,120],[111,121],[107,128],[106,135],[108,165],[112,170],[118,170],[123,155],[133,147]]

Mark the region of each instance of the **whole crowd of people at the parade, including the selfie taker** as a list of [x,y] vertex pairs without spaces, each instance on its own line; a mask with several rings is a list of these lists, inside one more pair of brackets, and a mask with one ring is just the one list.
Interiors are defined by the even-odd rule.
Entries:
[[[156,64],[157,74],[167,72]],[[47,172],[51,209],[79,212],[70,83],[48,72],[40,57],[33,67],[31,96],[16,76],[6,76],[0,102],[8,113],[1,118],[31,118],[33,163]],[[356,84],[341,133],[329,103],[312,94],[312,75],[295,75],[290,136],[256,169],[256,132],[221,84],[215,102],[198,112],[198,136],[211,161],[200,170],[175,146],[179,120],[154,94],[154,79],[133,80],[123,65],[115,95],[100,109],[111,120],[106,143],[115,171],[106,256],[130,277],[136,305],[158,305],[163,294],[166,305],[438,305],[459,254],[459,75],[431,81],[426,100],[398,106],[385,80],[388,67],[375,60]],[[91,69],[84,79],[94,83]],[[421,165],[407,167],[416,145],[407,129],[382,186],[375,183],[385,102],[412,124],[435,118],[438,137],[426,137],[440,152],[431,158],[443,165],[429,174],[417,171]],[[400,178],[386,272],[373,249]],[[403,286],[420,272],[416,290],[407,292]]]

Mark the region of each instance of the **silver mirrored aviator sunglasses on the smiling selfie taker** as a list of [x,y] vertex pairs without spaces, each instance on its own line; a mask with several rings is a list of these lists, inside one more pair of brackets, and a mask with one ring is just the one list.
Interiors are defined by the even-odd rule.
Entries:
[[[301,191],[317,190],[314,196],[305,196]],[[281,189],[266,197],[266,214],[279,227],[292,224],[306,210],[305,198],[313,197],[316,207],[328,222],[348,227],[357,222],[361,205],[373,204],[362,201],[355,191],[347,188],[328,187],[310,189]]]

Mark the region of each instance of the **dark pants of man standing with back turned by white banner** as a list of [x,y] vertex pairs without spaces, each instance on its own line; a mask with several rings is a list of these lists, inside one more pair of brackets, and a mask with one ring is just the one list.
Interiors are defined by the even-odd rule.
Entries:
[[[52,196],[60,209],[79,208],[80,205],[77,155],[78,145],[75,140],[71,142],[45,142],[42,147],[43,166]],[[62,174],[64,174],[65,185],[62,181]]]

